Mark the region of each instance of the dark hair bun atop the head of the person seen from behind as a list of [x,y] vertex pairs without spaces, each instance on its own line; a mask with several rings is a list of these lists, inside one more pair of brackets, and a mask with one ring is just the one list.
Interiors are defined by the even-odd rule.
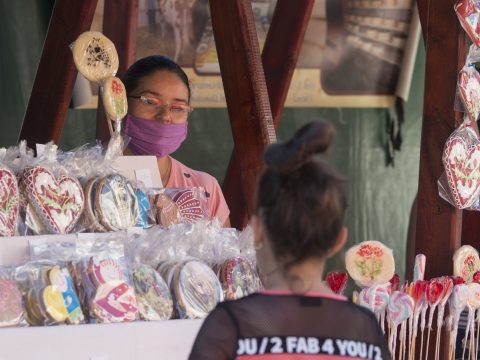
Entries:
[[334,135],[335,129],[330,123],[308,123],[298,129],[291,140],[268,146],[263,159],[270,170],[278,173],[291,172],[311,156],[324,153]]

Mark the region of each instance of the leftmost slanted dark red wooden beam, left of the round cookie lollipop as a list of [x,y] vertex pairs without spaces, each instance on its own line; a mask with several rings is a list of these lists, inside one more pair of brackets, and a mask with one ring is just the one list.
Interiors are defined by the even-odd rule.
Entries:
[[28,146],[58,144],[77,71],[69,45],[89,30],[97,0],[57,0],[23,120],[20,139]]

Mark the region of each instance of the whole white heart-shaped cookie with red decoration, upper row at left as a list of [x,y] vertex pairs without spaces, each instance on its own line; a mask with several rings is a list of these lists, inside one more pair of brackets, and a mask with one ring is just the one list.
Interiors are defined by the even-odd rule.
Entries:
[[43,166],[27,168],[23,179],[28,200],[48,231],[53,234],[70,232],[80,218],[84,206],[83,190],[78,180],[67,175],[56,179],[53,173]]

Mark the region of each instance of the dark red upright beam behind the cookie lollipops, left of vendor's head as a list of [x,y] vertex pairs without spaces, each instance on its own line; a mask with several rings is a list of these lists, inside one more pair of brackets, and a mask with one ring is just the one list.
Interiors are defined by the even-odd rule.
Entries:
[[[105,0],[103,34],[113,41],[120,60],[117,77],[122,77],[135,61],[138,0]],[[99,97],[97,108],[97,139],[110,138],[107,117]]]

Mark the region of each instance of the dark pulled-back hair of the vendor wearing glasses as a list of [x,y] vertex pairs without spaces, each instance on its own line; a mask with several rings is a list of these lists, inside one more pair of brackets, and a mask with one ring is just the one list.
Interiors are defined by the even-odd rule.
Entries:
[[183,81],[188,89],[188,101],[190,101],[191,90],[190,82],[185,71],[175,61],[169,59],[166,56],[151,55],[137,60],[133,63],[125,75],[123,76],[123,83],[127,90],[127,95],[130,95],[138,86],[138,82],[141,78],[148,76],[155,71],[169,71],[176,74],[180,80]]

